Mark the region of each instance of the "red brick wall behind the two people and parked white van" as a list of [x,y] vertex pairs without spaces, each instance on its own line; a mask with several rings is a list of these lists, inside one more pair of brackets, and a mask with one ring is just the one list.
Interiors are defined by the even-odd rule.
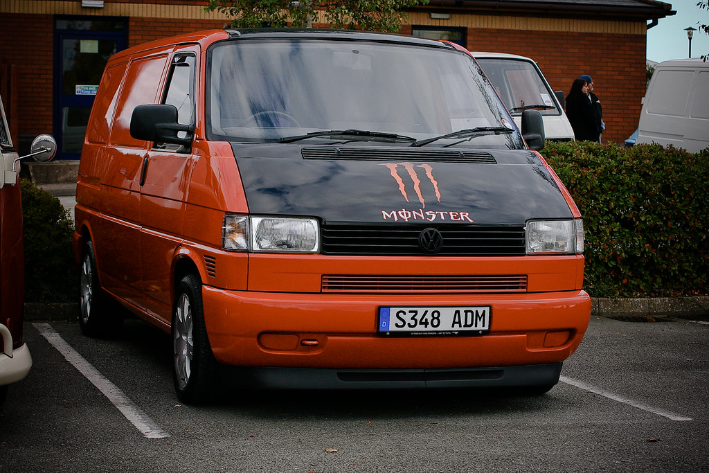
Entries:
[[623,143],[637,128],[645,94],[644,35],[469,28],[467,47],[532,57],[552,89],[564,95],[580,74],[593,77],[604,143]]

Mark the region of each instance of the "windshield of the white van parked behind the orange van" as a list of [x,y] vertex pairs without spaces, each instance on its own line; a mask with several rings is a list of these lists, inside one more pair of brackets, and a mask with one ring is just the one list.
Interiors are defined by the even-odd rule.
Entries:
[[542,115],[561,115],[553,92],[531,62],[496,57],[476,57],[513,116],[530,108]]

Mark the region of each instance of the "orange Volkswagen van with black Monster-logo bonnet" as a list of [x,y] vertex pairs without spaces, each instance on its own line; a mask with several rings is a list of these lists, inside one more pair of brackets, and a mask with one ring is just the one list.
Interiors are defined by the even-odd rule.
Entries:
[[[174,385],[545,392],[591,300],[579,210],[469,52],[211,30],[108,61],[77,181],[82,330],[172,333]],[[529,146],[528,146],[529,145]]]

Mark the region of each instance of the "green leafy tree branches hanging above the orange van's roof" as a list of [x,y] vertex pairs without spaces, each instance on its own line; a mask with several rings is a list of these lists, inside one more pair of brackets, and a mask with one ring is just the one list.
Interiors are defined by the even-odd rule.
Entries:
[[428,0],[209,0],[205,11],[232,18],[230,28],[312,28],[320,18],[331,28],[396,32],[406,18],[401,10]]

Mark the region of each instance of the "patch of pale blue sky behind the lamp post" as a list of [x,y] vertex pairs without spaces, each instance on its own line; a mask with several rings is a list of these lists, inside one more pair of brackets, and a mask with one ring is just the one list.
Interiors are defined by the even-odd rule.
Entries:
[[677,13],[660,18],[657,26],[647,30],[646,58],[655,62],[686,59],[689,55],[689,40],[684,28],[689,26],[697,29],[692,37],[692,57],[709,55],[709,35],[699,30],[700,24],[709,24],[709,10],[700,9],[697,6],[698,0],[662,1],[670,4]]

